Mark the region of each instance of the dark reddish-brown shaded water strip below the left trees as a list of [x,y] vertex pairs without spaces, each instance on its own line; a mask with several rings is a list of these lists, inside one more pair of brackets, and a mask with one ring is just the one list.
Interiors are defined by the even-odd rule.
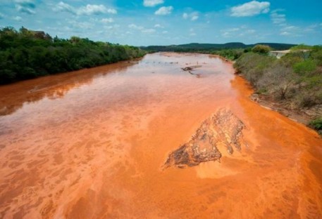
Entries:
[[63,98],[68,91],[92,84],[96,78],[104,77],[106,74],[125,72],[128,67],[136,65],[137,61],[118,62],[0,86],[0,116],[16,112],[25,103],[37,102],[43,98],[50,100]]

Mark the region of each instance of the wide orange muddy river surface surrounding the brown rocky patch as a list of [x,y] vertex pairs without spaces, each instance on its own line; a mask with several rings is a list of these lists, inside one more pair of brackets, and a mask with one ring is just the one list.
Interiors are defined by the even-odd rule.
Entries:
[[[321,138],[251,93],[176,53],[1,86],[0,218],[322,218]],[[220,109],[240,150],[162,168]]]

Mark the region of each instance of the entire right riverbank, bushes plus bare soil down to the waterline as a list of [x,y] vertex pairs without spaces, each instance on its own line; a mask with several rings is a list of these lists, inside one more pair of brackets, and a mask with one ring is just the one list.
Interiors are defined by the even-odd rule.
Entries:
[[244,53],[236,74],[254,89],[251,99],[322,133],[322,47],[293,51],[280,59],[266,53]]

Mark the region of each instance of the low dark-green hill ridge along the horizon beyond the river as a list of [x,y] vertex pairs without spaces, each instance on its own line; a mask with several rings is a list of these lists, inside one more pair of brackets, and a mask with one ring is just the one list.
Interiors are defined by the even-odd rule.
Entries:
[[[259,43],[270,46],[274,50],[286,50],[296,44],[273,44],[273,43]],[[233,48],[252,48],[257,44],[243,44],[239,42],[231,42],[227,44],[181,44],[171,46],[142,46],[141,48],[148,51],[211,51],[211,50],[223,50]]]

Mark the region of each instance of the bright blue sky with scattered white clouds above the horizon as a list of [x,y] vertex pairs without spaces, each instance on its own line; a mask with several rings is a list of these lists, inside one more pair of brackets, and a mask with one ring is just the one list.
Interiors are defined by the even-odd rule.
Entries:
[[322,44],[322,0],[0,0],[0,27],[134,46]]

